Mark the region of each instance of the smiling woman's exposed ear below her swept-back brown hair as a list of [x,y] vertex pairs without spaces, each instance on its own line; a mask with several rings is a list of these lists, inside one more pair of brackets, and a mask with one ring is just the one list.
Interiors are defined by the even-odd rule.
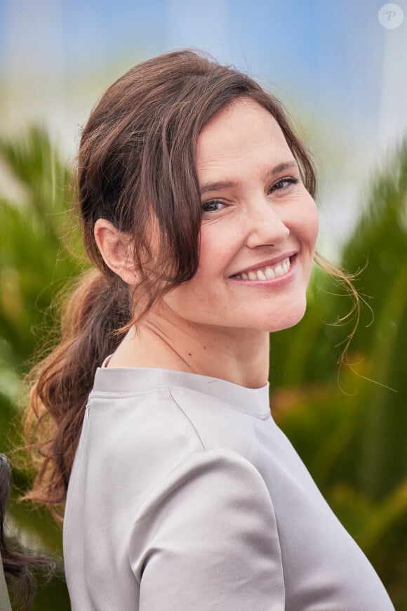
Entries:
[[130,238],[105,218],[98,218],[94,229],[95,241],[108,268],[121,280],[134,286],[139,278],[131,256]]

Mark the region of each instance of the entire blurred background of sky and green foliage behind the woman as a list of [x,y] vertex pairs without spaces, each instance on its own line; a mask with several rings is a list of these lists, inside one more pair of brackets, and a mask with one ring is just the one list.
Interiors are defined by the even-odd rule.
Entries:
[[[315,270],[309,307],[272,337],[271,405],[397,610],[407,610],[407,0],[0,0],[0,452],[49,343],[58,291],[86,263],[67,233],[81,126],[105,88],[153,55],[202,48],[276,94],[319,180],[319,251],[363,297]],[[352,317],[351,317],[352,319]],[[338,323],[339,324],[333,324]],[[13,469],[15,490],[32,473]],[[9,524],[61,556],[60,529],[13,498]],[[69,609],[62,569],[36,609]]]

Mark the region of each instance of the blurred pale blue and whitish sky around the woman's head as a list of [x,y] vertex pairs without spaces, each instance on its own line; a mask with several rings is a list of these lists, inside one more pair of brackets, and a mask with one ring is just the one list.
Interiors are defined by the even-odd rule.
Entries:
[[397,29],[380,25],[383,4],[0,0],[0,133],[41,120],[74,143],[112,78],[171,48],[203,48],[305,119],[327,184],[321,203],[343,234],[368,172],[407,129],[407,0]]

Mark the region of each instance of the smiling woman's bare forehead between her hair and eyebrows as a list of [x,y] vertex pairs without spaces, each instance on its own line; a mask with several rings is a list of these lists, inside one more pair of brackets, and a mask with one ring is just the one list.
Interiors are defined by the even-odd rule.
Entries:
[[272,114],[253,100],[241,99],[221,110],[201,131],[196,146],[199,182],[208,174],[259,172],[270,164],[294,159]]

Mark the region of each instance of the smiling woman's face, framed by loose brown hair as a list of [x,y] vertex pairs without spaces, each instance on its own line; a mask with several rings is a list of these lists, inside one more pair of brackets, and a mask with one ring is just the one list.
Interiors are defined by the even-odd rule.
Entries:
[[318,215],[272,115],[248,99],[217,114],[196,150],[199,267],[164,297],[203,325],[278,331],[305,313]]

